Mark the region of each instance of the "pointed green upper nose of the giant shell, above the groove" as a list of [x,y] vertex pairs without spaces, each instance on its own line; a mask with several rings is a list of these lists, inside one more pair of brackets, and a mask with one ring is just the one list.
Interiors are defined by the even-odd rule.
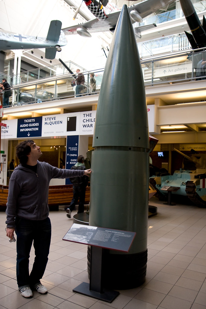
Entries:
[[132,22],[120,13],[104,70],[93,147],[149,148],[145,87]]

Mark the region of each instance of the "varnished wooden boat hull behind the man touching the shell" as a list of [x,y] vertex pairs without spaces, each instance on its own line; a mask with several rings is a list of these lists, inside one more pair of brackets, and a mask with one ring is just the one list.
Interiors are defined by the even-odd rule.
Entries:
[[[6,208],[6,202],[8,197],[8,186],[0,186],[0,207]],[[50,209],[54,209],[54,206],[69,205],[73,197],[72,185],[58,185],[49,186],[48,190],[48,206]],[[85,204],[89,204],[90,201],[90,187],[86,187]],[[55,208],[56,209],[56,208]],[[4,209],[5,210],[5,209]]]

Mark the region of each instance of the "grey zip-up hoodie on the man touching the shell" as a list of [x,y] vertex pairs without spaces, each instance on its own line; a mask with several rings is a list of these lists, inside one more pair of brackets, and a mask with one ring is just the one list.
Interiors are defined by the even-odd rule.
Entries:
[[48,217],[48,187],[52,178],[83,176],[84,170],[67,170],[37,161],[37,172],[19,164],[9,180],[6,204],[7,227],[15,227],[15,217],[44,220]]

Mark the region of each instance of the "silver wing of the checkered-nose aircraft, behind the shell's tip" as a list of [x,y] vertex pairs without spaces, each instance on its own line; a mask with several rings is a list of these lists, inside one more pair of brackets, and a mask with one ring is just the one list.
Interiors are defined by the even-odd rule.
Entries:
[[[166,8],[174,0],[145,0],[128,8],[128,11],[136,10],[142,18],[154,13],[158,9]],[[65,35],[76,34],[77,28],[85,28],[88,32],[102,32],[108,31],[111,28],[115,28],[120,11],[113,12],[107,15],[106,19],[91,19],[86,23],[81,23],[75,26],[67,27],[62,29]],[[132,20],[132,23],[134,21]]]

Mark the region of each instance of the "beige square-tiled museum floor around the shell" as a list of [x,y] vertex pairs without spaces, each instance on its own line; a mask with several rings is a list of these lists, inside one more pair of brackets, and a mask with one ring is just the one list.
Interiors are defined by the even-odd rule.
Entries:
[[[41,280],[48,294],[35,291],[32,298],[23,298],[16,283],[16,243],[6,237],[5,213],[0,212],[0,309],[206,308],[206,209],[164,205],[155,197],[149,204],[158,207],[158,214],[148,218],[146,281],[120,290],[112,303],[72,292],[82,281],[89,282],[87,246],[62,240],[73,224],[63,208],[49,215],[52,243]],[[33,258],[32,251],[31,263]]]

